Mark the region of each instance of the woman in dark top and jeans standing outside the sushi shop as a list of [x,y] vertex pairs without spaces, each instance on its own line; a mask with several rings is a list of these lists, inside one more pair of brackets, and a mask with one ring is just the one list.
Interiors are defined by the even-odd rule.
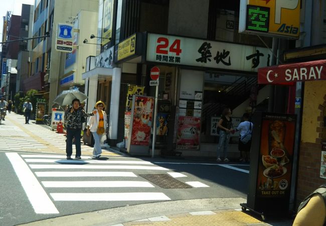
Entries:
[[229,107],[225,107],[222,111],[222,118],[217,127],[220,128],[220,139],[217,147],[217,161],[221,162],[221,153],[223,152],[224,162],[230,162],[227,157],[230,142],[230,133],[234,133],[232,128],[232,111]]

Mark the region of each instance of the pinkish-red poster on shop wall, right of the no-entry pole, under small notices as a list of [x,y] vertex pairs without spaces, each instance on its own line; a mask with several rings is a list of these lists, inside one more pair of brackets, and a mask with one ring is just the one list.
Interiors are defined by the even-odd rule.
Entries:
[[199,149],[200,118],[179,116],[177,148]]

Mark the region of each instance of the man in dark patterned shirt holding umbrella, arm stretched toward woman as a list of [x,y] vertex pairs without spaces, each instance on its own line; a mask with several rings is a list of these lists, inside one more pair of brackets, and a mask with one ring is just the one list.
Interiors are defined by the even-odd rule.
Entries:
[[66,154],[67,159],[72,159],[72,143],[75,138],[76,155],[75,159],[81,159],[80,133],[82,129],[82,117],[88,117],[92,113],[86,114],[80,107],[79,99],[72,100],[72,107],[65,112],[65,123],[67,127]]

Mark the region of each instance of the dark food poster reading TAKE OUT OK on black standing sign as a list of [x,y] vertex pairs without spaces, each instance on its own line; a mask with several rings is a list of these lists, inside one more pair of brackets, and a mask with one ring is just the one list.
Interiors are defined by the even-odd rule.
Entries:
[[256,198],[289,202],[296,118],[263,114]]

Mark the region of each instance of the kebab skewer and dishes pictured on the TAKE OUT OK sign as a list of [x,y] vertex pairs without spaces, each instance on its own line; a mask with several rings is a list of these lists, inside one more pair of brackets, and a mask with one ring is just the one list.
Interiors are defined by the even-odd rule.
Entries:
[[284,167],[289,162],[284,147],[285,130],[286,126],[281,121],[274,121],[269,124],[269,155],[262,156],[262,163],[266,167],[263,172],[265,177],[281,177],[287,171]]

